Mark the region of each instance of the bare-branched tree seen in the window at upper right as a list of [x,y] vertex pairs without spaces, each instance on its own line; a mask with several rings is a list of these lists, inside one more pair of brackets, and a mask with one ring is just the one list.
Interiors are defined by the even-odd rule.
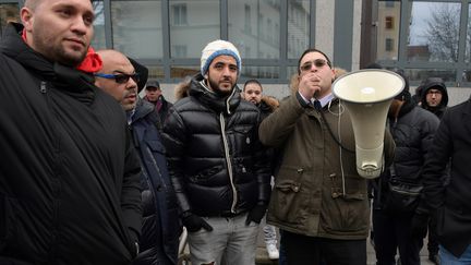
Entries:
[[[433,61],[458,61],[459,4],[439,4],[431,10],[425,37]],[[470,38],[468,32],[468,39]],[[469,41],[469,40],[468,40]]]

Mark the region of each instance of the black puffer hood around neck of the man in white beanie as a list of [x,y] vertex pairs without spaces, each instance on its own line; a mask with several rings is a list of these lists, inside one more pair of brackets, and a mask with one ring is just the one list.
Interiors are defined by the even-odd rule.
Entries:
[[231,115],[241,101],[241,95],[237,85],[232,87],[229,96],[220,96],[205,85],[201,73],[191,80],[189,95],[197,98],[197,100],[214,111],[225,112],[226,115]]

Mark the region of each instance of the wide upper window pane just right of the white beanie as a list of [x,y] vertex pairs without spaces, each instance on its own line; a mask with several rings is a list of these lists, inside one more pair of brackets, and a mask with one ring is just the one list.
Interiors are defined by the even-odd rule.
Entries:
[[280,1],[228,1],[229,40],[242,58],[279,58]]

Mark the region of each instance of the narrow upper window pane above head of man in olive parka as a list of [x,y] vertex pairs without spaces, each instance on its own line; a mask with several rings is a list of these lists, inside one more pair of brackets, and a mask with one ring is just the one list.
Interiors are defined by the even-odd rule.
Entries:
[[288,1],[288,59],[298,59],[310,46],[310,1]]

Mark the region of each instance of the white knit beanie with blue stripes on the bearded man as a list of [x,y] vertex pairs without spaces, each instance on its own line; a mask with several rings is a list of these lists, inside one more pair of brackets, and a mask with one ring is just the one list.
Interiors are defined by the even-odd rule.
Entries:
[[205,75],[208,71],[209,64],[212,61],[218,57],[218,56],[231,56],[235,59],[235,62],[238,64],[239,74],[242,70],[242,62],[239,55],[239,50],[233,46],[233,44],[218,39],[215,41],[212,41],[206,45],[206,47],[202,51],[202,58],[201,58],[201,72],[203,75]]

